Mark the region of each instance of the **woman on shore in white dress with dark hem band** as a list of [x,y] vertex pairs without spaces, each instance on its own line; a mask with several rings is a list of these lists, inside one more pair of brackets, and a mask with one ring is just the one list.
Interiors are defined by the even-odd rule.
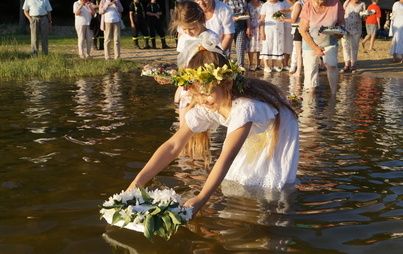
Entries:
[[[283,2],[268,0],[260,11],[260,39],[262,40],[260,59],[264,61],[265,72],[282,70],[281,67],[276,66],[276,61],[284,58],[284,23],[273,19],[272,15],[285,8]],[[269,59],[272,60],[271,66],[269,66]]]

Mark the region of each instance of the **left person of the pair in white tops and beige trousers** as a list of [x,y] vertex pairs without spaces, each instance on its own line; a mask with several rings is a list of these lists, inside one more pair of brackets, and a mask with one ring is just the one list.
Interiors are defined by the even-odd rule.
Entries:
[[90,57],[93,35],[90,23],[92,15],[95,15],[95,10],[89,0],[79,0],[73,4],[73,13],[75,14],[75,28],[78,37],[78,55],[80,58]]

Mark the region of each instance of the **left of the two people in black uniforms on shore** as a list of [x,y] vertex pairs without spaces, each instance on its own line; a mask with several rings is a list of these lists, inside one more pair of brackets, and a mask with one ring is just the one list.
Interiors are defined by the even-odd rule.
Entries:
[[146,13],[143,4],[140,0],[134,0],[129,5],[129,18],[130,18],[130,26],[132,28],[132,40],[134,47],[137,49],[141,49],[139,45],[139,32],[144,37],[144,48],[150,49],[150,45],[148,44],[149,33],[148,33],[148,24],[146,22]]

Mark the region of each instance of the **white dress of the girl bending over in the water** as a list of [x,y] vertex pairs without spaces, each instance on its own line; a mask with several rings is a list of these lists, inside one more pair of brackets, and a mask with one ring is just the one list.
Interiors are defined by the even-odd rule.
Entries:
[[215,130],[219,125],[232,131],[253,122],[250,133],[231,164],[225,180],[241,185],[281,189],[293,184],[299,160],[298,120],[283,109],[278,143],[272,158],[268,157],[272,127],[278,111],[267,103],[247,98],[233,100],[230,115],[225,119],[218,112],[196,105],[186,113],[186,123],[194,133]]

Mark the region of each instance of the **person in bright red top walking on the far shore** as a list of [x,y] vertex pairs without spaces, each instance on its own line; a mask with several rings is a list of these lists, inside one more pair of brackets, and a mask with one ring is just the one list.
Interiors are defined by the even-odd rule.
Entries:
[[364,52],[367,52],[365,51],[365,43],[368,40],[370,40],[368,51],[372,50],[375,51],[374,43],[375,43],[376,31],[381,28],[381,8],[377,3],[378,0],[372,0],[372,4],[370,4],[367,8],[368,11],[372,10],[375,12],[375,14],[369,15],[365,20],[365,28],[367,29],[367,35],[361,42],[361,45],[364,48]]

